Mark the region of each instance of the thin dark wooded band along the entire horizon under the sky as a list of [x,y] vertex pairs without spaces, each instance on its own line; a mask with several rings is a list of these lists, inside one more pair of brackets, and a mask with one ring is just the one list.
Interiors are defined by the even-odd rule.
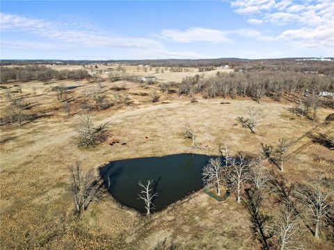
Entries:
[[178,67],[219,67],[229,65],[236,70],[256,71],[296,71],[317,72],[319,74],[334,74],[333,61],[319,60],[295,60],[295,58],[247,60],[239,58],[216,59],[164,59],[164,60],[1,60],[0,65],[111,65],[119,63],[124,65],[150,65],[150,67],[173,67],[173,72],[178,72]]

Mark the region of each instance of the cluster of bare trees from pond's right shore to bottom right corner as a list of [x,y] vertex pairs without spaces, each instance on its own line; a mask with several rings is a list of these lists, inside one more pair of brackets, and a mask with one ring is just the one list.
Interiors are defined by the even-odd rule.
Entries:
[[[277,144],[278,151],[285,152],[285,147],[280,150],[280,144],[286,142],[280,140]],[[251,228],[263,249],[302,247],[306,228],[315,238],[320,238],[321,233],[323,237],[333,237],[333,179],[319,174],[308,183],[288,185],[282,176],[264,167],[268,158],[262,153],[256,158],[242,153],[231,157],[226,143],[219,146],[219,152],[221,157],[210,159],[204,167],[203,182],[214,186],[218,195],[223,186],[234,192],[237,203],[247,208]],[[264,208],[271,207],[273,201],[277,210],[270,209],[269,213]]]

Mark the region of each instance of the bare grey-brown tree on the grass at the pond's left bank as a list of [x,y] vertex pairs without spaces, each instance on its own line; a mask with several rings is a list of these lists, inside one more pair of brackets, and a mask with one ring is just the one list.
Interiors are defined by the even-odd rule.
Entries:
[[84,174],[79,163],[70,169],[70,176],[76,210],[84,212],[92,201],[100,198],[102,183],[94,176],[93,169]]

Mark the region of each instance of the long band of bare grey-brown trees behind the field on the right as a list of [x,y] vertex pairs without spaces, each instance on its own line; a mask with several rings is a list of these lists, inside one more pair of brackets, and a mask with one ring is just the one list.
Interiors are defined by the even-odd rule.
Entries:
[[319,91],[334,92],[331,76],[302,74],[300,72],[218,72],[216,76],[201,78],[199,75],[182,79],[179,94],[191,96],[202,93],[204,97],[252,97],[261,102],[265,96],[280,99],[285,92],[319,95]]

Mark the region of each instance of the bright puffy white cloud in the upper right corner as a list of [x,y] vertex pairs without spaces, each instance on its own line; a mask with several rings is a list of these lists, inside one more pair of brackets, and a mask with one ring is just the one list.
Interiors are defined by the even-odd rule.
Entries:
[[322,48],[333,53],[333,0],[237,0],[232,1],[231,6],[235,12],[245,15],[251,24],[267,22],[276,26],[290,25],[280,35],[268,36],[269,40],[284,40],[301,47]]

